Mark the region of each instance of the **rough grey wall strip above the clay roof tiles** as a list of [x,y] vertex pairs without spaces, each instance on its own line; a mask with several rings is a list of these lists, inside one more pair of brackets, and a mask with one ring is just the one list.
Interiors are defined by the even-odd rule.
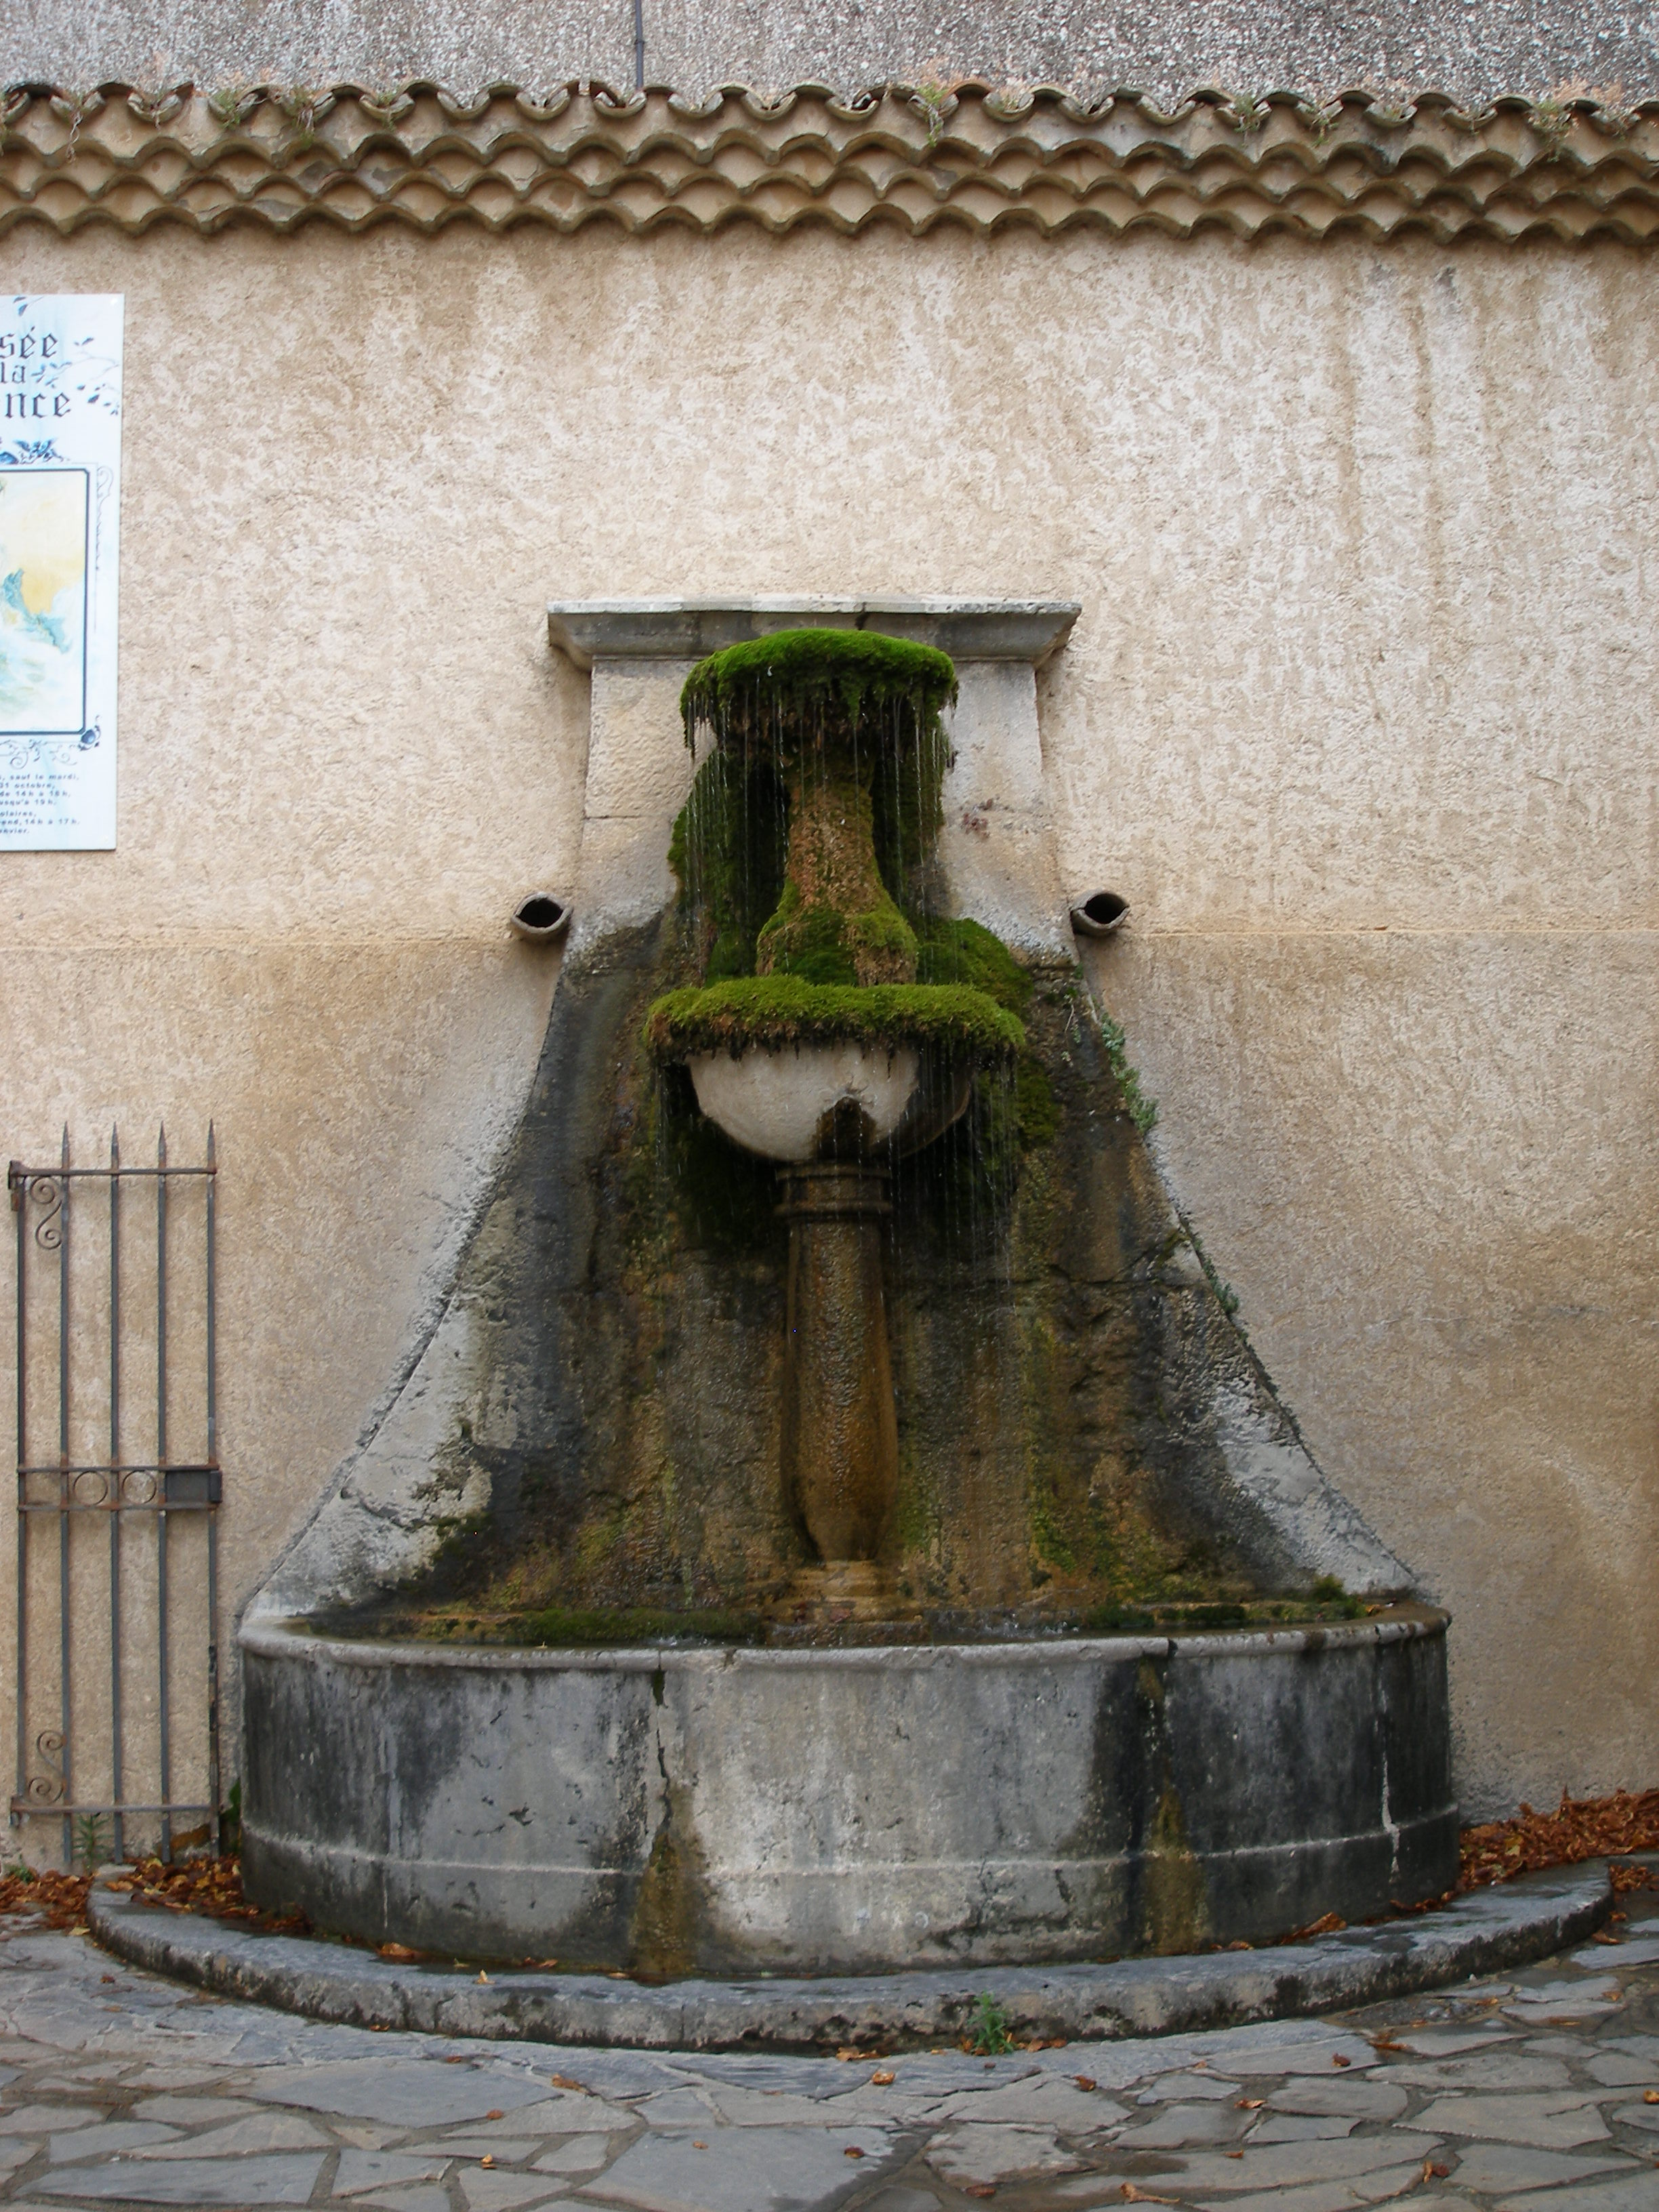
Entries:
[[[639,0],[646,82],[843,93],[889,77],[980,75],[1179,100],[1197,84],[1332,93],[1433,88],[1480,104],[1564,86],[1659,88],[1652,9],[1604,0]],[[453,91],[635,82],[630,0],[11,0],[13,82],[365,86]]]

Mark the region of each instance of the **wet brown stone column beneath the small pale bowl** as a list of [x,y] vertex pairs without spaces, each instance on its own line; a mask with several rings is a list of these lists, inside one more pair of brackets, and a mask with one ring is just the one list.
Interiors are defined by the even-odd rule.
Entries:
[[783,1493],[825,1566],[874,1559],[898,1495],[880,1219],[887,1170],[827,1161],[779,1175],[790,1223]]

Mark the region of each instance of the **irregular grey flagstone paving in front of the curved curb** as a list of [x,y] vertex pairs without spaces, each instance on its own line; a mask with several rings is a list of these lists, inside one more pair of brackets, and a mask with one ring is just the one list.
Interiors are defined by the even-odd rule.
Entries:
[[334,2028],[0,1927],[0,2205],[1659,2212],[1659,1893],[1506,1978],[980,2059]]

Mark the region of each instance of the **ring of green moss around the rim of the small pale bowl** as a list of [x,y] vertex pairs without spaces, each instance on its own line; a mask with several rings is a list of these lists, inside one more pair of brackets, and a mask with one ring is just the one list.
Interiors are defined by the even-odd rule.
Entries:
[[799,975],[750,975],[701,991],[668,991],[646,1015],[646,1046],[664,1062],[745,1044],[931,1044],[975,1060],[1009,1060],[1024,1046],[1020,1020],[984,991],[960,984],[812,984]]

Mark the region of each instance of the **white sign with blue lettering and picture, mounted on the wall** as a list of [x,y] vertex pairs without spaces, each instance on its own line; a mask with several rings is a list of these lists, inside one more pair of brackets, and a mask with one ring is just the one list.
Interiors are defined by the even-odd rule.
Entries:
[[115,843],[122,299],[0,296],[0,852]]

